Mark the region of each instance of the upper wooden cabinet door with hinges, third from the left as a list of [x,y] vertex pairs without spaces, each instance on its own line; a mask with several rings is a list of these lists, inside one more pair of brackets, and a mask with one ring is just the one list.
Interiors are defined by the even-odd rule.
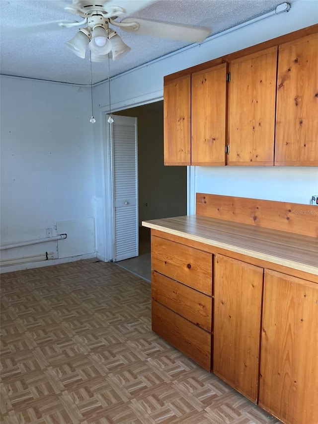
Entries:
[[277,46],[230,63],[228,165],[273,165]]

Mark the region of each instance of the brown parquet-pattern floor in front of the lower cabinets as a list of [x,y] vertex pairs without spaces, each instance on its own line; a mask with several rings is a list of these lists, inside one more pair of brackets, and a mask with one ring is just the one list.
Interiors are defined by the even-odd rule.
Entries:
[[1,275],[1,423],[278,423],[151,331],[150,284],[84,260]]

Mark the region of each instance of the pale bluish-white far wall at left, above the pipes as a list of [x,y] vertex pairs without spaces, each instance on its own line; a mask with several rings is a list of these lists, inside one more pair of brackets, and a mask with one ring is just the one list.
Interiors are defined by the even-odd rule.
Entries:
[[[0,82],[1,245],[44,238],[46,228],[55,235],[58,221],[93,218],[88,88],[4,76]],[[56,248],[50,242],[1,256],[52,250],[58,257]]]

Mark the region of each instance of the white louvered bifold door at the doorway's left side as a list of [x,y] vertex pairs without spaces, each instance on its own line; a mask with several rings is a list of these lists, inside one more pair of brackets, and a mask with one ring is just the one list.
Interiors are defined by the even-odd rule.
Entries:
[[138,256],[137,118],[112,124],[114,261]]

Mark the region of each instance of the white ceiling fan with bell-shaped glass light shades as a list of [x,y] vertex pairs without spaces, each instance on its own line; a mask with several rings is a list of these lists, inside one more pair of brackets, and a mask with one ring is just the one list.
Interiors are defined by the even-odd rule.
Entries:
[[45,31],[80,27],[66,45],[80,58],[85,58],[86,48],[89,47],[91,62],[106,62],[109,56],[116,60],[131,50],[114,27],[139,35],[190,43],[202,42],[210,34],[211,29],[207,27],[127,17],[154,2],[155,0],[73,0],[66,5],[65,10],[79,15],[82,20],[44,22],[28,29]]

